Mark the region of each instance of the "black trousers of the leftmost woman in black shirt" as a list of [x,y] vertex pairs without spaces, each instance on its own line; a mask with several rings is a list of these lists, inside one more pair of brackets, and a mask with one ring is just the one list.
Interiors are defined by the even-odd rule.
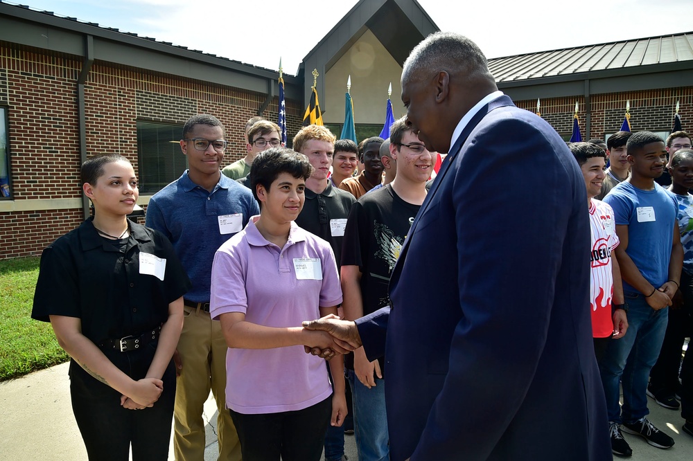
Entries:
[[[132,352],[111,352],[109,359],[133,379],[146,376],[156,345]],[[120,354],[120,355],[114,355]],[[132,443],[133,461],[167,460],[173,403],[175,368],[171,361],[164,373],[164,392],[151,408],[128,410],[121,394],[70,364],[72,410],[89,460],[127,461]]]

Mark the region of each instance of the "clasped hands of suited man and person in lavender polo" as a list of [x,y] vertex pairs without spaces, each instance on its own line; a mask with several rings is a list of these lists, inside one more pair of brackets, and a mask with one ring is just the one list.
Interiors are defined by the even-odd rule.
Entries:
[[313,354],[322,359],[332,359],[335,354],[348,354],[361,347],[361,337],[356,329],[356,323],[342,320],[334,314],[329,314],[317,320],[307,320],[303,323],[310,334],[309,344],[304,345],[306,354]]

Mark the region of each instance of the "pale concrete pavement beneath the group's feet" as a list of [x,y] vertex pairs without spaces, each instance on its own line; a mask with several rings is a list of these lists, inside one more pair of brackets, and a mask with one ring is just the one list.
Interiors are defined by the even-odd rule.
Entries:
[[[87,452],[70,403],[68,364],[57,365],[26,377],[0,383],[0,460],[86,460]],[[678,411],[667,410],[649,399],[649,419],[676,440],[671,449],[649,446],[641,437],[625,434],[633,449],[633,461],[693,460],[693,437],[683,433]],[[566,415],[570,417],[570,415]],[[208,399],[204,405],[207,422],[207,449],[204,459],[216,460],[216,405]],[[537,434],[541,437],[541,434]],[[358,460],[354,437],[345,437],[350,461]],[[563,460],[568,453],[556,453]],[[615,459],[619,457],[615,456]],[[169,451],[173,460],[173,443]]]

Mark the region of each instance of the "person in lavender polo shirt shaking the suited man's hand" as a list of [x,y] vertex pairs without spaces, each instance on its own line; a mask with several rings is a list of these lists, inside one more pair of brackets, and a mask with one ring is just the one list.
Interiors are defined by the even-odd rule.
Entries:
[[346,352],[302,320],[336,314],[342,302],[327,242],[293,221],[312,167],[306,156],[276,147],[250,172],[259,216],[217,251],[211,316],[221,320],[227,352],[226,402],[247,460],[318,461],[328,423],[347,415],[342,356],[329,366],[306,347]]

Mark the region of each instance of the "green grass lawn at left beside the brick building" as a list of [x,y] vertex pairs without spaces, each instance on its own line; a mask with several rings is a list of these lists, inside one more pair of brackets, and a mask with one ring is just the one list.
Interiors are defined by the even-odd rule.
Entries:
[[50,323],[31,318],[39,258],[0,260],[0,381],[69,359]]

